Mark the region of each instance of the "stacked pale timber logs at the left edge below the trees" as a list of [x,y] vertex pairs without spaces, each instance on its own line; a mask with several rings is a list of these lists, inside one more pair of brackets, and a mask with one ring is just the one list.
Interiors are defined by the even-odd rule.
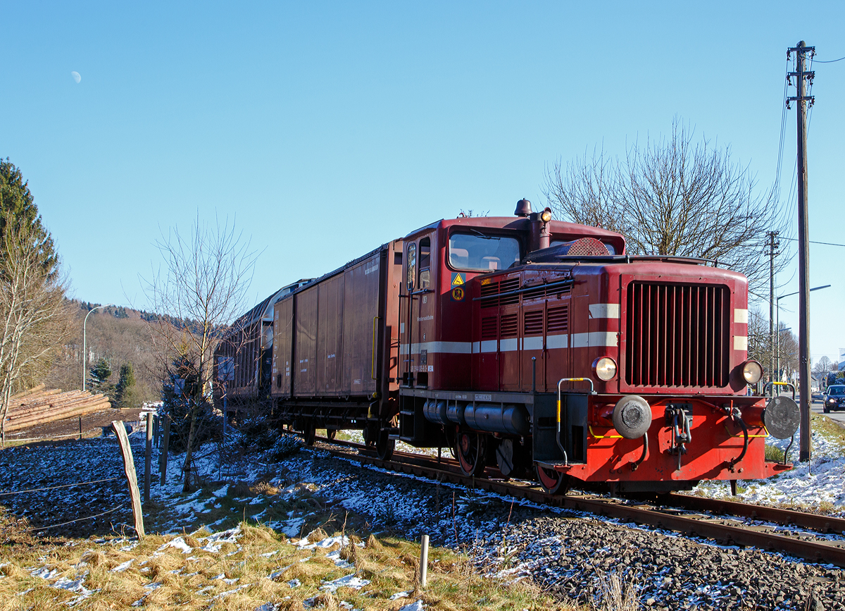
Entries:
[[86,390],[45,390],[44,384],[15,394],[9,400],[6,412],[6,432],[39,424],[84,416],[111,407],[104,394],[91,394]]

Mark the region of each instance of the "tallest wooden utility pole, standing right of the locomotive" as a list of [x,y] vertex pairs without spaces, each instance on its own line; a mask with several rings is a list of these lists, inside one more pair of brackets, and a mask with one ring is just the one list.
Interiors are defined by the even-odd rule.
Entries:
[[807,96],[807,81],[812,82],[814,72],[806,68],[807,47],[804,41],[798,47],[787,51],[787,58],[795,53],[795,72],[789,78],[795,79],[797,96],[788,97],[789,102],[798,102],[798,272],[799,272],[799,391],[801,399],[801,431],[799,433],[799,460],[810,460],[810,235],[807,214],[807,102],[814,102]]

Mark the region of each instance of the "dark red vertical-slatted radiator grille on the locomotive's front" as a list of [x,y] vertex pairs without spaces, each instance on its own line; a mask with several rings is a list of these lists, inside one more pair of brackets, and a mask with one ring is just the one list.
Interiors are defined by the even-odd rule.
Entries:
[[630,386],[728,385],[728,287],[632,282],[626,318]]

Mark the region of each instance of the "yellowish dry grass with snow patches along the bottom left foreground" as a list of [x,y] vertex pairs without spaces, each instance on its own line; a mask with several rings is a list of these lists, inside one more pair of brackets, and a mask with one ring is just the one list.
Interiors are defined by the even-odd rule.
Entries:
[[[200,550],[205,530],[183,534],[193,549],[183,553],[162,547],[176,537],[151,535],[134,546],[126,540],[95,542],[68,540],[49,545],[29,540],[3,546],[0,558],[0,611],[81,608],[148,609],[179,605],[192,611],[210,607],[252,611],[264,603],[280,609],[340,609],[350,603],[361,609],[395,611],[422,599],[429,609],[462,610],[571,608],[531,581],[506,582],[479,574],[466,556],[444,548],[429,549],[428,586],[416,586],[419,546],[398,538],[369,535],[361,539],[347,532],[344,547],[303,549],[264,526],[242,524],[237,544],[226,543],[217,553]],[[340,535],[341,532],[335,532]],[[313,532],[309,541],[326,532]],[[359,544],[356,544],[356,543]],[[335,556],[354,566],[338,566]],[[129,561],[131,564],[126,565]],[[122,570],[117,572],[116,569]],[[36,570],[52,572],[47,579]],[[326,581],[355,574],[369,583],[361,589],[321,589]],[[55,587],[60,577],[79,580],[90,593]],[[398,592],[407,597],[390,600]],[[624,607],[620,607],[624,608]]]

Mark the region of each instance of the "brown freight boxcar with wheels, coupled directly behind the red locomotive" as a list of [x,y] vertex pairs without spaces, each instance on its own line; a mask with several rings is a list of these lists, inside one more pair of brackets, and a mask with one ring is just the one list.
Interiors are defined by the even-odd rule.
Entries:
[[317,428],[357,427],[390,449],[379,419],[398,412],[402,249],[379,246],[275,303],[270,394],[307,440]]

